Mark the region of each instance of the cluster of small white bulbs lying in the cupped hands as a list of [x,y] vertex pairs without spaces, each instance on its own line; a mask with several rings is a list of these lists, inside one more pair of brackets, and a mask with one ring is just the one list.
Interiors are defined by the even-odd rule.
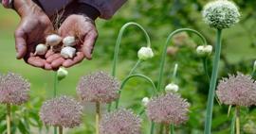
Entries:
[[52,49],[54,46],[58,46],[63,42],[61,56],[64,59],[72,59],[76,55],[76,39],[74,36],[67,36],[64,39],[57,34],[51,34],[46,37],[46,44],[40,43],[36,46],[34,55],[44,56],[50,46]]

